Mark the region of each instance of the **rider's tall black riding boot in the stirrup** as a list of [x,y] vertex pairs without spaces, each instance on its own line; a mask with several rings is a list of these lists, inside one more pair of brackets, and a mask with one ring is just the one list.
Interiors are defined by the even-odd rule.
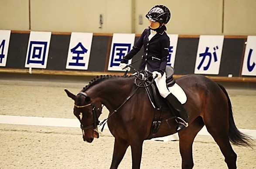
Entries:
[[172,93],[170,93],[165,99],[174,107],[174,109],[177,110],[178,117],[176,118],[176,122],[178,123],[178,126],[176,131],[179,132],[188,127],[188,113],[182,106],[181,102]]

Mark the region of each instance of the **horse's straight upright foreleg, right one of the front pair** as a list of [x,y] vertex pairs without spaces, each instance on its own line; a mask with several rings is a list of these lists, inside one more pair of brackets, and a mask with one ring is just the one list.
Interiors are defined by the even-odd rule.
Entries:
[[142,145],[143,141],[136,141],[131,144],[131,151],[132,151],[132,161],[133,167],[132,169],[140,169],[140,162],[142,156]]

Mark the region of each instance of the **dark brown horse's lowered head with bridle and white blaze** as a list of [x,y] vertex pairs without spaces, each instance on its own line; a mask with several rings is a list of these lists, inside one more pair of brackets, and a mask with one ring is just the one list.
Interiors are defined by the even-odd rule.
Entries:
[[80,92],[77,95],[65,89],[68,97],[75,101],[74,115],[80,121],[80,127],[83,133],[83,140],[92,142],[94,138],[99,138],[98,124],[99,116],[102,111],[100,102],[92,102],[86,93]]

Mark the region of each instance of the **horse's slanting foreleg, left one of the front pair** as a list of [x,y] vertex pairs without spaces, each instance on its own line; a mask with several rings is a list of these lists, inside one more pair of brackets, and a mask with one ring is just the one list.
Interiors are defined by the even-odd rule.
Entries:
[[128,146],[129,144],[125,140],[115,138],[114,151],[110,169],[117,169],[117,167],[123,159],[123,156]]

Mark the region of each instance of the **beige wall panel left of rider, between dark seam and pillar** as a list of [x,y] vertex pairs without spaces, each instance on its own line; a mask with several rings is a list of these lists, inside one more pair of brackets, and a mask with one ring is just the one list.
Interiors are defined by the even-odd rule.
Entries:
[[[120,5],[115,7],[115,4]],[[118,23],[122,15],[116,14],[125,13],[126,21],[130,23],[130,8],[130,0],[31,0],[31,29],[94,33],[131,32],[131,26]],[[99,28],[100,14],[103,16],[102,28]]]

